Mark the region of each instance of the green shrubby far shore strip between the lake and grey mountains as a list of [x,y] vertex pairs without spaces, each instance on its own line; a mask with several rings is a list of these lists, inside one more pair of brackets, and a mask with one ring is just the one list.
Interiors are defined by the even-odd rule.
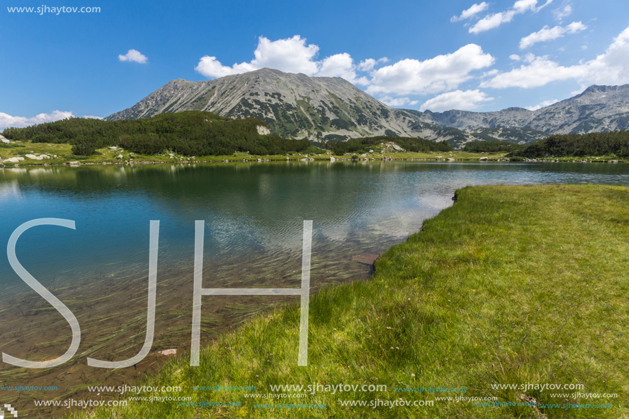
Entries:
[[[629,131],[552,135],[530,145],[372,136],[319,144],[283,139],[258,119],[212,112],[164,113],[146,119],[71,118],[2,132],[1,165],[189,163],[258,160],[626,161]],[[317,143],[318,144],[318,143]],[[323,148],[321,148],[323,147]]]

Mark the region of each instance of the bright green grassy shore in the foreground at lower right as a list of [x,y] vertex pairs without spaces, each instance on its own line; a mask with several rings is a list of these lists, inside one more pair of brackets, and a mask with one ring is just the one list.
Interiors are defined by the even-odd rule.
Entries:
[[[176,357],[144,383],[181,386],[181,392],[141,394],[241,405],[190,407],[178,401],[131,400],[128,407],[77,411],[72,417],[626,418],[628,203],[629,187],[464,188],[452,207],[385,252],[371,280],[323,289],[313,296],[309,366],[297,366],[298,306],[284,307],[221,335],[202,350],[199,367],[191,368],[187,356]],[[316,257],[313,254],[313,260]],[[270,386],[312,383],[387,385],[388,389],[319,391],[278,400],[245,396],[296,394],[272,391]],[[527,383],[584,387],[492,389],[492,385]],[[193,387],[215,385],[256,390]],[[465,391],[396,392],[396,387],[464,387]],[[575,392],[618,396],[586,400],[573,396]],[[447,396],[495,397],[511,405],[437,399]],[[433,400],[434,405],[375,409],[342,405],[345,400],[369,404],[399,398]],[[326,408],[260,407],[265,403]],[[545,406],[550,403],[560,406]],[[610,407],[566,409],[565,403]]]

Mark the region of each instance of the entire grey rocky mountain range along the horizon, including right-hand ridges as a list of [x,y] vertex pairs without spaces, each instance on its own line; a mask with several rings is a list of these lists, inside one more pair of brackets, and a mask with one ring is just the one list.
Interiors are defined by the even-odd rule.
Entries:
[[344,141],[360,136],[532,143],[549,134],[629,129],[629,84],[590,86],[538,110],[420,112],[391,108],[340,77],[309,77],[260,69],[215,80],[172,80],[134,106],[106,119],[139,119],[164,112],[208,110],[235,119],[258,118],[292,139]]

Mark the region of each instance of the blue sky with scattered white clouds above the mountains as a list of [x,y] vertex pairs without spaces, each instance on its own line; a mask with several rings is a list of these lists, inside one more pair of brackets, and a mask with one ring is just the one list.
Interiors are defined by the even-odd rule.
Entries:
[[[32,7],[38,12],[9,12]],[[53,8],[100,8],[80,13]],[[625,1],[62,1],[0,9],[0,128],[106,117],[176,78],[273,67],[401,108],[535,108],[629,83]]]

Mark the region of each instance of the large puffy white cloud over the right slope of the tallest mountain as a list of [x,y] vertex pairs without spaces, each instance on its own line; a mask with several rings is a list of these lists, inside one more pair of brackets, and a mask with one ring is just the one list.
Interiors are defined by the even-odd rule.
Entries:
[[438,93],[457,88],[471,78],[471,71],[493,63],[494,58],[475,44],[429,60],[407,58],[372,71],[367,92],[395,95]]

